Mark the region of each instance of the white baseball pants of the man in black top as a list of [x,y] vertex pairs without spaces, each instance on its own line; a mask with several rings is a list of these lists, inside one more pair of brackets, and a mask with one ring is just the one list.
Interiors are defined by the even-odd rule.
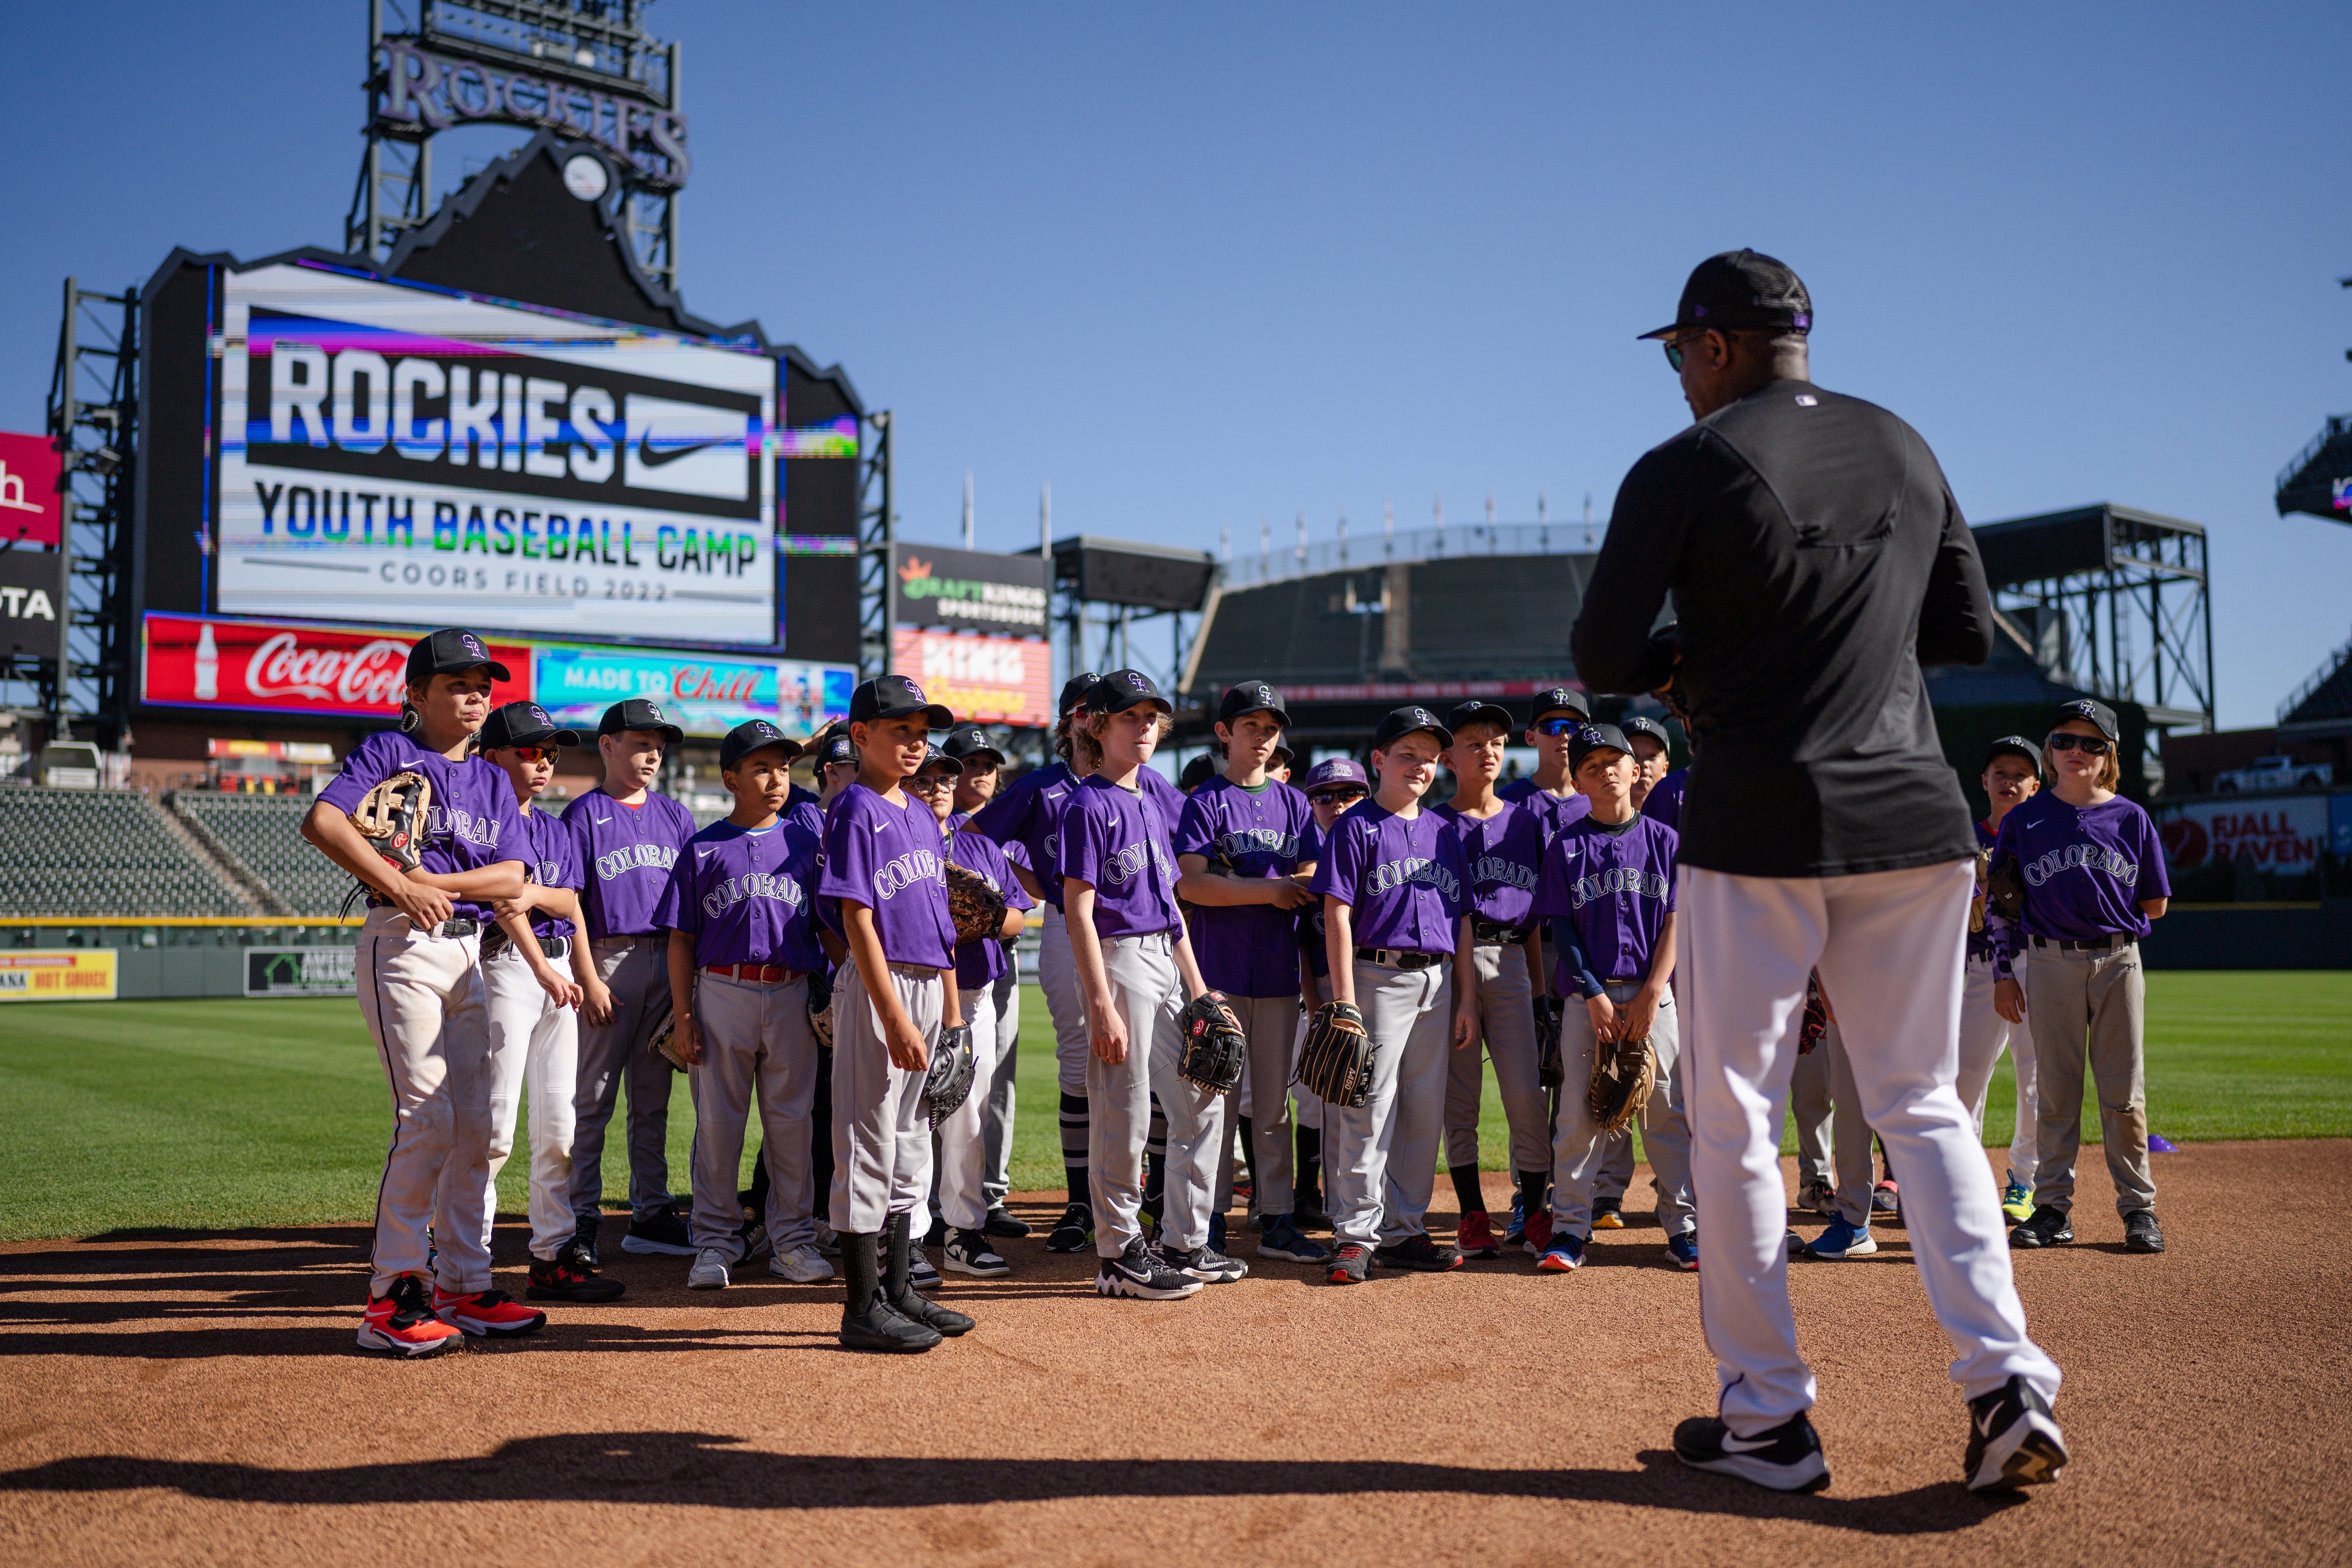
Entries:
[[1788,1302],[1780,1119],[1806,971],[1837,1009],[1863,1117],[1903,1173],[1903,1218],[1966,1396],[2023,1375],[2058,1394],[2025,1333],[1999,1187],[1959,1103],[1959,978],[1976,875],[1966,860],[1860,877],[1733,877],[1684,865],[1677,940],[1689,1018],[1698,1312],[1740,1436],[1813,1406]]

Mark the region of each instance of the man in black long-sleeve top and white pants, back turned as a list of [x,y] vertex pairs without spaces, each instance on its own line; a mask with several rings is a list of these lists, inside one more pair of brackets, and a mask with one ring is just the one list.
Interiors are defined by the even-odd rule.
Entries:
[[[1722,1399],[1719,1420],[1675,1429],[1675,1453],[1780,1490],[1830,1481],[1778,1164],[1818,966],[1955,1347],[1966,1483],[2053,1481],[2058,1366],[2025,1333],[1999,1192],[1952,1086],[1976,839],[1922,665],[1990,654],[1985,569],[1919,433],[1809,381],[1811,324],[1771,256],[1691,273],[1675,324],[1644,336],[1665,341],[1696,423],[1625,475],[1571,635],[1588,689],[1672,684],[1693,736],[1677,905]],[[1668,592],[1677,625],[1653,635]]]

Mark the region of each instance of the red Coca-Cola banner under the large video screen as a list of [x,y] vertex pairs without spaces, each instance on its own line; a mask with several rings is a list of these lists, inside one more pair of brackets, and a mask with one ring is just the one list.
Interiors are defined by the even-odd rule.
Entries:
[[[139,701],[390,719],[421,635],[151,614]],[[499,682],[494,701],[529,698],[532,651],[492,642],[489,654],[515,677]]]

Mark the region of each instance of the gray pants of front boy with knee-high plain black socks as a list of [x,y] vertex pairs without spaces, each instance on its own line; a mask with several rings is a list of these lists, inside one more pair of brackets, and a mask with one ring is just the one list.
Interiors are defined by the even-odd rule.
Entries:
[[[898,1006],[938,1046],[948,985],[936,969],[891,964]],[[833,976],[833,1229],[863,1237],[894,1213],[922,1208],[931,1194],[931,1112],[922,1103],[924,1072],[894,1067],[875,1011],[858,978],[856,954]]]

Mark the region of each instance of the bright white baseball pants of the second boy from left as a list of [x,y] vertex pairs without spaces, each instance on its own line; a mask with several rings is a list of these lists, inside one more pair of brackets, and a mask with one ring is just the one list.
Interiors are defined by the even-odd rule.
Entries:
[[[555,959],[569,964],[569,959]],[[499,1211],[499,1171],[515,1152],[515,1107],[532,1091],[532,1258],[553,1262],[572,1239],[572,1103],[579,1088],[581,1016],[539,990],[515,947],[482,959],[489,992],[489,1204],[482,1251]],[[482,1286],[489,1288],[487,1284]]]

